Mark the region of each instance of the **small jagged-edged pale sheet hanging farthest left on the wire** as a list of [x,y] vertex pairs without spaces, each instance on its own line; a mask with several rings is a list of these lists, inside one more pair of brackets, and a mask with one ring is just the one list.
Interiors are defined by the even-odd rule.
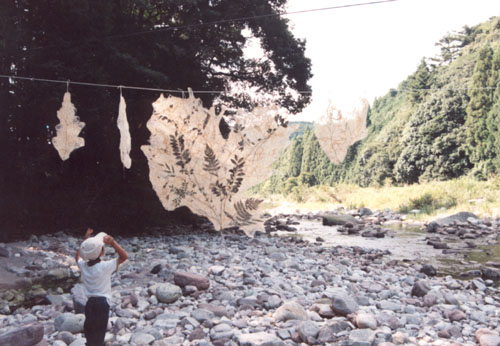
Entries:
[[82,137],[78,137],[85,123],[81,122],[75,114],[76,108],[71,103],[71,94],[66,92],[62,106],[57,111],[57,117],[60,121],[56,125],[57,135],[52,138],[52,144],[63,161],[69,158],[73,150],[85,145],[85,140]]

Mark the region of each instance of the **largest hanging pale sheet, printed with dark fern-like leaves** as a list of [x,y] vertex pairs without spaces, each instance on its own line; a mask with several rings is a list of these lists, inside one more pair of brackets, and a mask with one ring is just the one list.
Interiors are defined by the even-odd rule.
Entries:
[[271,165],[288,144],[278,108],[240,111],[228,122],[224,139],[219,122],[224,114],[205,109],[190,92],[183,99],[160,96],[148,121],[150,144],[142,146],[149,178],[163,207],[189,207],[220,230],[239,226],[249,235],[262,230],[261,200],[243,192],[265,180]]

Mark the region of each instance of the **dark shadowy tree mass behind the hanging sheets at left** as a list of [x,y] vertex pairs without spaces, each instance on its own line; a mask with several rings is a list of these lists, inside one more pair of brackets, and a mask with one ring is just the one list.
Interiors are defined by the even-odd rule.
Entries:
[[[267,98],[291,113],[310,101],[305,42],[277,14],[285,0],[7,0],[0,3],[0,73],[197,94],[206,106],[252,109]],[[228,21],[262,16],[259,19]],[[204,23],[217,24],[205,25]],[[245,56],[248,42],[265,54]],[[244,87],[244,88],[242,88]],[[132,169],[122,168],[119,90],[70,85],[85,147],[62,162],[50,144],[64,84],[0,78],[1,231],[87,225],[145,228],[167,213],[140,145],[159,93],[124,89]],[[245,91],[251,90],[251,92]]]

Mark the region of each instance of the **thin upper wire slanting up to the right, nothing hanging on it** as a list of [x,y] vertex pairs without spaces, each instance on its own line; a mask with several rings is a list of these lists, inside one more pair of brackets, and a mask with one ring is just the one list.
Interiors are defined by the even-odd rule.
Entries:
[[[131,37],[131,36],[139,36],[139,35],[144,35],[144,34],[154,34],[157,32],[170,31],[170,30],[182,30],[182,29],[196,28],[196,27],[202,27],[202,26],[207,26],[207,25],[218,25],[218,24],[226,24],[226,23],[231,23],[231,22],[241,22],[241,21],[252,20],[252,19],[282,17],[282,16],[288,16],[288,15],[294,15],[294,14],[336,10],[336,9],[349,8],[349,7],[377,5],[377,4],[382,4],[382,3],[387,3],[387,2],[395,2],[395,1],[399,1],[399,0],[378,0],[378,1],[360,2],[360,3],[355,3],[355,4],[313,8],[313,9],[291,11],[291,12],[270,13],[270,14],[263,14],[263,15],[258,15],[258,16],[222,19],[222,20],[216,20],[216,21],[204,22],[204,23],[196,23],[196,24],[186,24],[186,25],[179,25],[179,26],[163,26],[163,27],[160,27],[160,28],[154,29],[154,30],[142,30],[142,31],[136,31],[136,32],[131,32],[131,33],[127,33],[127,34],[104,36],[100,40],[96,40],[96,41],[103,41],[103,40],[109,40],[109,39],[115,39],[115,38],[124,38],[124,37]],[[29,49],[26,48],[26,49],[23,49],[22,52],[41,50],[41,49],[47,49],[47,48],[55,48],[55,47],[54,46],[42,46],[42,47],[33,47],[33,48],[29,48]],[[6,51],[6,50],[0,50],[0,51]]]

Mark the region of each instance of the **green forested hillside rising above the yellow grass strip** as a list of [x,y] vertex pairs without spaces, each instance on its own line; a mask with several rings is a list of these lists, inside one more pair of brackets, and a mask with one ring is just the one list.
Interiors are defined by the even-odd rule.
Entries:
[[295,186],[412,184],[500,172],[500,17],[441,39],[439,56],[374,100],[368,136],[340,165],[312,127],[293,139],[261,191]]

